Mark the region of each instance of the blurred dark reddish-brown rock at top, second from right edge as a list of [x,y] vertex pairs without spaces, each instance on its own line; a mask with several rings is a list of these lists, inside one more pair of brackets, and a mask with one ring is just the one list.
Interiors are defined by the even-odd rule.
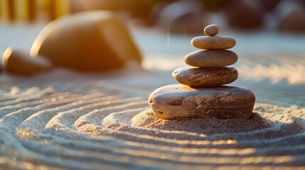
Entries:
[[259,1],[235,0],[226,10],[229,26],[252,30],[264,26],[264,11]]

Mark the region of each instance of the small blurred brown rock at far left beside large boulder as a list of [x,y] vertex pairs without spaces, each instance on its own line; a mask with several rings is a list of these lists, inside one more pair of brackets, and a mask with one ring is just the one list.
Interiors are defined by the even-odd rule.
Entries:
[[4,69],[11,74],[31,76],[46,72],[52,64],[44,57],[31,57],[27,52],[7,48],[2,57]]

